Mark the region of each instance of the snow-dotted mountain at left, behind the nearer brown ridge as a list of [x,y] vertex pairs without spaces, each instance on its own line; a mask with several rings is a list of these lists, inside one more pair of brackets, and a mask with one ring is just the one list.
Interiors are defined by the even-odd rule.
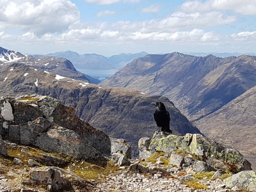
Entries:
[[0,47],[0,55],[2,56],[0,57],[1,65],[10,65],[10,63],[19,61],[19,63],[31,65],[36,69],[40,68],[45,70],[45,72],[52,72],[59,76],[80,79],[95,84],[100,83],[98,79],[77,71],[73,64],[65,58],[26,56],[20,52],[10,51],[2,47]]

